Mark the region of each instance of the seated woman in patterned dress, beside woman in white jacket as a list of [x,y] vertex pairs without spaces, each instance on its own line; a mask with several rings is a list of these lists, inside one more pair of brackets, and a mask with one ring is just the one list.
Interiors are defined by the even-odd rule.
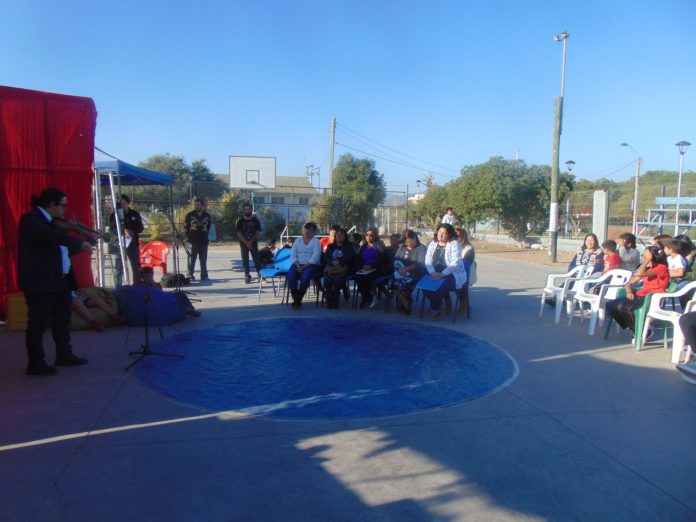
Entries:
[[416,283],[425,274],[426,249],[421,245],[418,234],[413,230],[404,232],[403,244],[394,258],[394,281],[392,288],[396,295],[396,309],[411,313],[413,298],[411,293]]

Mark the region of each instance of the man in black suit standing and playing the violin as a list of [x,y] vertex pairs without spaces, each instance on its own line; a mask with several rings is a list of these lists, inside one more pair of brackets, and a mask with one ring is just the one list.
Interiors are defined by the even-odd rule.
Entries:
[[70,256],[92,251],[92,245],[69,236],[51,225],[61,219],[68,197],[56,188],[47,188],[33,210],[19,220],[18,283],[27,302],[27,375],[54,375],[44,361],[43,334],[49,323],[56,343],[56,366],[81,366],[87,359],[77,357],[70,345],[70,300],[72,276]]

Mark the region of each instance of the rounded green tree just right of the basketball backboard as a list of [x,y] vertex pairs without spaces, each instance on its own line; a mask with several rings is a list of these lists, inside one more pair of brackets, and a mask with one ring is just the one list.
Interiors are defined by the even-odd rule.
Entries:
[[387,195],[384,176],[375,169],[375,162],[356,159],[352,154],[339,158],[333,171],[333,189],[333,222],[347,228],[355,225],[359,230],[368,226],[374,209]]

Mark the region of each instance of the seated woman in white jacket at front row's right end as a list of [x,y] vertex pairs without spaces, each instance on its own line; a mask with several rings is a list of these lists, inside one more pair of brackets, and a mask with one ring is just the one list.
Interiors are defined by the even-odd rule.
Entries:
[[430,299],[430,318],[437,321],[442,314],[442,300],[452,290],[459,290],[466,283],[466,269],[462,261],[462,249],[457,241],[454,227],[441,223],[437,228],[436,240],[428,245],[425,268],[434,281],[442,280],[437,290],[424,290]]

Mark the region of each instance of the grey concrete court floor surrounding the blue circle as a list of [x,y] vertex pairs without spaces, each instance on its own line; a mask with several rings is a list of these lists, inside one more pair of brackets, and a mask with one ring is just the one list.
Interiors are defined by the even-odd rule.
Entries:
[[[270,289],[258,301],[230,270],[238,256],[211,248],[214,282],[191,287],[203,316],[165,336],[258,317],[421,321],[293,311]],[[471,320],[438,326],[500,346],[519,376],[398,417],[277,421],[176,404],[123,371],[138,328],[75,332],[89,366],[27,377],[23,333],[3,330],[0,520],[696,520],[696,388],[669,352],[634,352],[615,331],[591,338],[586,321],[554,325],[550,309],[539,319],[549,267],[478,263]]]

